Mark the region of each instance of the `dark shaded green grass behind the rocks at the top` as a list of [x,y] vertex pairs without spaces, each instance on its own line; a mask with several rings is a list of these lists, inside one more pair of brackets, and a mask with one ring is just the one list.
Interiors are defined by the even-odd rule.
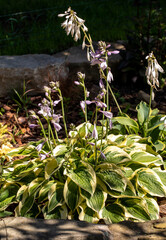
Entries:
[[[164,0],[152,3],[164,14]],[[65,35],[57,17],[68,6],[86,20],[94,41],[126,39],[128,30],[136,27],[138,8],[143,14],[149,7],[148,0],[30,0],[28,4],[0,0],[0,4],[1,55],[55,53],[76,44]]]

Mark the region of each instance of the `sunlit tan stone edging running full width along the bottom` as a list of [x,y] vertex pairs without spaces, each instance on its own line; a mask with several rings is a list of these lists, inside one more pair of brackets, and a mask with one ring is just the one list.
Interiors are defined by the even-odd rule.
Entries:
[[166,218],[103,225],[24,217],[0,219],[1,240],[165,240]]

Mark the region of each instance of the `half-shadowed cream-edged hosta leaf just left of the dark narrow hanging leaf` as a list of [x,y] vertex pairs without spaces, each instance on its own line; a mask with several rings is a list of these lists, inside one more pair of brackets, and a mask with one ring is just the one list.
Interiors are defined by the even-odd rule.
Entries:
[[53,184],[48,193],[48,213],[53,211],[56,207],[61,206],[64,202],[63,197],[64,184],[57,182]]

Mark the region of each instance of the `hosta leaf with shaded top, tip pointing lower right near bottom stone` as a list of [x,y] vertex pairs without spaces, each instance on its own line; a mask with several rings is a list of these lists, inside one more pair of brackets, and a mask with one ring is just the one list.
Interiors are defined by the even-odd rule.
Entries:
[[151,220],[146,202],[141,198],[124,198],[120,199],[120,203],[125,208],[125,217],[127,219],[132,218],[139,221]]

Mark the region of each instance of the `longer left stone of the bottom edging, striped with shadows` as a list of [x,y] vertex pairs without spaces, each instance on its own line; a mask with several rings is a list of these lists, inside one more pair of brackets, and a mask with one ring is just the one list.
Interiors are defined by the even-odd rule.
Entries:
[[24,217],[0,220],[1,240],[113,240],[106,225]]

